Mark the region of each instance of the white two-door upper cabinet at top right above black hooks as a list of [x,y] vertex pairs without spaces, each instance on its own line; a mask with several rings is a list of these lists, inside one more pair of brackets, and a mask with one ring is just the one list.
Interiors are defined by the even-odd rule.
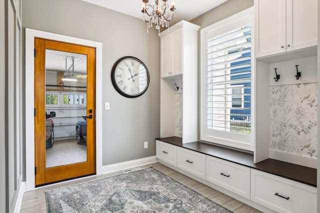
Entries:
[[254,0],[255,57],[317,45],[317,0]]

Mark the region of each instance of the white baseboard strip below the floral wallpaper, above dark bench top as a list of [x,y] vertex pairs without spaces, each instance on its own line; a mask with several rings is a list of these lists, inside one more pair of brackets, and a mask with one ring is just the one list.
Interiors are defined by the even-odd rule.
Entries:
[[269,158],[316,169],[317,159],[269,150]]

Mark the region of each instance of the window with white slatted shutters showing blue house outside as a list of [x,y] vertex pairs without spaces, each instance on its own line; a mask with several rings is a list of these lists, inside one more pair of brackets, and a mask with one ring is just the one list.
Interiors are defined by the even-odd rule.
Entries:
[[207,128],[250,134],[250,24],[208,39],[206,49]]

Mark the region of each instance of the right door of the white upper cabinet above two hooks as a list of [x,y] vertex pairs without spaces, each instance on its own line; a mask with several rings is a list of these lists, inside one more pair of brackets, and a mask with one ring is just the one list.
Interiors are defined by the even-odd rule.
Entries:
[[317,0],[286,0],[286,51],[317,45]]

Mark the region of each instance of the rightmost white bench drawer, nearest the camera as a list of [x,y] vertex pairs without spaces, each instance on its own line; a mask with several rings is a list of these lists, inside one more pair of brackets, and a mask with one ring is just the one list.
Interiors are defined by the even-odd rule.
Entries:
[[316,213],[316,188],[251,169],[251,200],[279,213]]

